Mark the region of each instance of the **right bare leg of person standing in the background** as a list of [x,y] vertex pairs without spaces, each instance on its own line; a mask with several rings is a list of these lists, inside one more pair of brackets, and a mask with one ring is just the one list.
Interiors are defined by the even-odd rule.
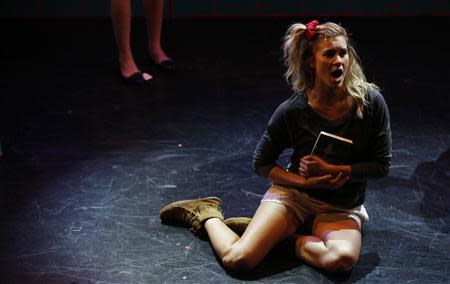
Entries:
[[156,63],[170,59],[162,49],[161,31],[163,20],[163,0],[143,0],[147,21],[148,51]]

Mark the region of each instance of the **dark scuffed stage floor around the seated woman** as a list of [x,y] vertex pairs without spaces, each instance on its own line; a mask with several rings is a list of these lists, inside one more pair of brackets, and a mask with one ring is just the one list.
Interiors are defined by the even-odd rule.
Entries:
[[[226,216],[253,214],[269,185],[252,172],[253,150],[290,95],[280,45],[291,20],[169,22],[179,70],[153,70],[147,89],[120,81],[106,20],[2,21],[0,282],[448,283],[450,18],[338,21],[393,130],[392,170],[370,182],[351,272],[276,249],[229,275],[208,242],[159,220],[164,204],[205,195]],[[138,62],[152,70],[135,24]]]

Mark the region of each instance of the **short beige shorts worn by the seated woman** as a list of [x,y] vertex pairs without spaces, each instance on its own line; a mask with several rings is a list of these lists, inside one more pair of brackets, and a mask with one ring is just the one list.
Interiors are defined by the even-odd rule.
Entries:
[[345,215],[358,222],[360,228],[362,222],[369,221],[369,215],[364,205],[359,205],[352,209],[339,208],[314,199],[305,192],[276,184],[267,190],[261,202],[277,202],[289,207],[302,223],[308,218],[316,217],[320,214]]

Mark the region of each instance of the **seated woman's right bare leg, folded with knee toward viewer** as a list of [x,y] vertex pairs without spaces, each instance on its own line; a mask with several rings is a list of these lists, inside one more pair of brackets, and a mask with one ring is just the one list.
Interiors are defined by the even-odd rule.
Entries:
[[318,215],[313,236],[296,235],[297,256],[327,271],[350,270],[358,261],[360,250],[359,224],[342,214]]

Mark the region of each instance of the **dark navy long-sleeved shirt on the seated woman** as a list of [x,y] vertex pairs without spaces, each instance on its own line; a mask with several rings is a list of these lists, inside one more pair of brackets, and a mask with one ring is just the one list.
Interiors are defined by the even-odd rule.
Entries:
[[352,180],[336,190],[299,189],[319,200],[343,208],[364,203],[368,178],[386,176],[391,161],[391,128],[389,112],[383,96],[370,89],[363,118],[356,115],[356,107],[339,121],[330,122],[316,113],[304,93],[296,93],[284,101],[273,113],[261,137],[253,158],[256,174],[267,177],[285,150],[292,148],[288,170],[298,174],[300,159],[309,155],[320,131],[353,140],[347,162]]

